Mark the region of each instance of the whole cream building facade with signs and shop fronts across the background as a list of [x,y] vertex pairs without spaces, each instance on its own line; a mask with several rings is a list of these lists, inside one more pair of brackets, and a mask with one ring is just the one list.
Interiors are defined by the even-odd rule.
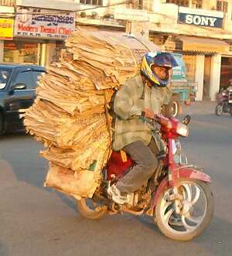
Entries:
[[[232,78],[232,0],[0,0],[0,10],[0,61],[57,60],[75,19],[86,29],[128,32],[182,53],[197,101],[214,101]],[[3,36],[1,24],[9,28]]]

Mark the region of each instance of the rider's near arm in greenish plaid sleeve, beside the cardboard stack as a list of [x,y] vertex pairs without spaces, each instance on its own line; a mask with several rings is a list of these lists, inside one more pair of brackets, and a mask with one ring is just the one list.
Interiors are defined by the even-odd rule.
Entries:
[[122,119],[141,114],[143,100],[139,99],[137,84],[130,81],[118,90],[114,99],[114,112]]

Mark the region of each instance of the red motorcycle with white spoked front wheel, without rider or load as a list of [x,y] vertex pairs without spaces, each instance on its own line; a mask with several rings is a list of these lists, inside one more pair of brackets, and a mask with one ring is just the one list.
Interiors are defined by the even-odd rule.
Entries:
[[182,161],[178,137],[189,135],[187,125],[190,117],[186,116],[183,122],[159,114],[153,114],[152,119],[144,115],[142,118],[154,128],[155,122],[161,125],[165,154],[159,156],[159,167],[148,182],[132,194],[131,203],[119,205],[108,198],[107,188],[116,183],[134,162],[129,155],[125,158],[121,152],[113,151],[107,167],[102,171],[101,185],[91,199],[77,200],[78,210],[84,217],[93,220],[106,213],[147,214],[165,236],[189,241],[201,234],[213,217],[210,176]]

